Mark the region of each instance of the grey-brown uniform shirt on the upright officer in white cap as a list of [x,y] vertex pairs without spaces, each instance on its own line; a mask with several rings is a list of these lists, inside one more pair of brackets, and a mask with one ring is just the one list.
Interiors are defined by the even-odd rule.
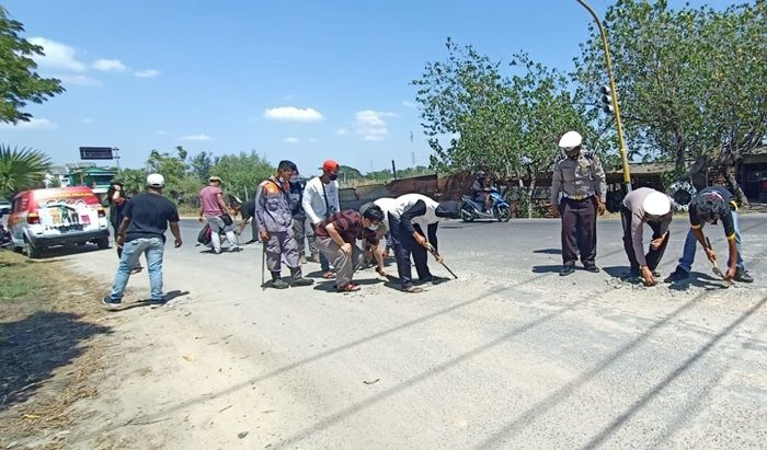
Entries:
[[584,199],[598,195],[603,203],[607,201],[607,181],[599,158],[591,152],[581,151],[577,158],[562,154],[554,161],[551,176],[551,203],[559,204],[562,197]]

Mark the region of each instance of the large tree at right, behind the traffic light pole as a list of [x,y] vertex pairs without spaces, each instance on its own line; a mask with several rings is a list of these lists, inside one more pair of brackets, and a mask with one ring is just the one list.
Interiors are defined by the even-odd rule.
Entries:
[[[677,177],[690,175],[688,160],[713,165],[747,203],[732,169],[767,135],[766,3],[714,11],[619,0],[604,26],[629,149],[673,161]],[[596,97],[607,79],[595,30],[575,64],[582,92]]]

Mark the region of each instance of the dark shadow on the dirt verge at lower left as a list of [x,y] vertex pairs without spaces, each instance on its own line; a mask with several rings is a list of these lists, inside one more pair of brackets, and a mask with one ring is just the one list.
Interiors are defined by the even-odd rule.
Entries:
[[0,325],[0,411],[34,396],[57,368],[83,354],[85,341],[110,333],[64,312],[37,312]]

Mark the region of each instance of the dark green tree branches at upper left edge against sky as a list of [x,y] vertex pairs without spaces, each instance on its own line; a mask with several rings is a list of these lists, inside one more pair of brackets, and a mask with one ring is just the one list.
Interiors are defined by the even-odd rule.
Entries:
[[43,103],[65,91],[59,80],[35,72],[32,57],[43,48],[21,37],[23,32],[0,5],[0,123],[28,122],[32,114],[22,111],[27,102]]

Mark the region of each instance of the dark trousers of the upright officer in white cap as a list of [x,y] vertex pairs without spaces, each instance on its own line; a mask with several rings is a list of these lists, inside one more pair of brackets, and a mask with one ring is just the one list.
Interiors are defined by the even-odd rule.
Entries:
[[563,265],[575,265],[579,251],[581,263],[593,265],[596,259],[596,197],[583,200],[563,197],[560,208]]

